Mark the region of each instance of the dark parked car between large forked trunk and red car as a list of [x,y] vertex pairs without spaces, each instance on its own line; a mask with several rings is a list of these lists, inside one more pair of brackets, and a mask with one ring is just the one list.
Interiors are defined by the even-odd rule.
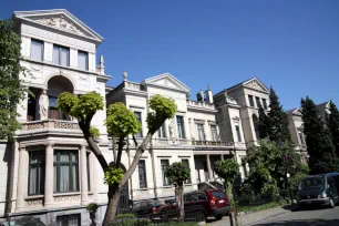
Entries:
[[141,201],[135,203],[129,212],[133,213],[135,217],[151,218],[162,205],[164,204],[154,199]]

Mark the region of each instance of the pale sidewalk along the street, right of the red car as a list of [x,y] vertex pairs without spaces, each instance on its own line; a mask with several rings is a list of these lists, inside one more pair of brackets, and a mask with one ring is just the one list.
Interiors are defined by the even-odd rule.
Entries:
[[[255,212],[255,213],[248,213],[238,216],[238,223],[240,226],[253,226],[258,224],[259,222],[264,219],[268,219],[278,215],[282,215],[286,213],[290,213],[290,210],[285,209],[282,207],[275,207],[275,208],[269,208],[260,212]],[[229,217],[225,216],[220,220],[214,220],[210,218],[207,223],[207,225],[210,226],[230,226],[229,224]]]

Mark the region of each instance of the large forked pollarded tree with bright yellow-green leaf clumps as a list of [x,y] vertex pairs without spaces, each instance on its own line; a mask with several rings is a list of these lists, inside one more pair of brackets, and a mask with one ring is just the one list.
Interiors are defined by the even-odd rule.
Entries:
[[[103,110],[103,97],[96,92],[89,92],[76,96],[64,92],[58,97],[58,107],[65,114],[78,119],[80,129],[83,132],[91,151],[96,156],[104,174],[105,184],[109,185],[109,204],[103,225],[111,224],[116,215],[116,207],[120,201],[120,194],[123,186],[135,171],[138,161],[152,140],[152,135],[162,126],[165,120],[171,119],[176,113],[174,100],[163,97],[158,94],[151,97],[147,102],[152,112],[147,114],[148,132],[138,145],[134,134],[141,130],[141,125],[133,112],[126,109],[123,103],[115,103],[109,106],[106,126],[110,135],[116,137],[117,153],[114,165],[109,165],[94,141],[95,129],[91,127],[91,122],[96,111]],[[93,134],[92,134],[92,133]],[[129,170],[124,173],[121,168],[121,156],[125,138],[133,136],[135,143],[135,155]]]

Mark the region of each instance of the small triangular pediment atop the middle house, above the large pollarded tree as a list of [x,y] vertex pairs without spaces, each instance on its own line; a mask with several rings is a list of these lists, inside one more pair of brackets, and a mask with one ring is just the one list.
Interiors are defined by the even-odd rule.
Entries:
[[144,83],[148,85],[167,88],[167,89],[189,93],[189,88],[170,73],[164,73],[164,74],[160,74],[160,75],[146,79]]

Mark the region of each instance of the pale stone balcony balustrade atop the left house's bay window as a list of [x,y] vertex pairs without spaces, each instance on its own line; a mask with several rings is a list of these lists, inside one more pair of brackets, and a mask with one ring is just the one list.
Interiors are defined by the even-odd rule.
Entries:
[[81,134],[78,122],[61,120],[31,121],[22,124],[20,135],[38,133]]

